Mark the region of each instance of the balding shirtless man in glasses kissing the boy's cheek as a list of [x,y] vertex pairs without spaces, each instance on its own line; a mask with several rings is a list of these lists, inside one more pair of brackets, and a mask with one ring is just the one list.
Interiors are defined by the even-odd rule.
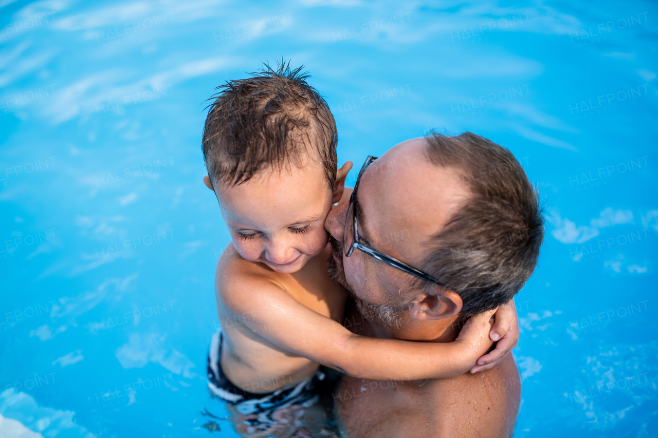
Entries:
[[[543,238],[537,192],[507,149],[470,133],[369,158],[350,202],[325,222],[330,272],[359,310],[351,328],[453,341],[465,318],[509,302],[532,274]],[[351,438],[508,437],[520,379],[511,356],[499,363],[443,380],[345,376],[338,422]]]

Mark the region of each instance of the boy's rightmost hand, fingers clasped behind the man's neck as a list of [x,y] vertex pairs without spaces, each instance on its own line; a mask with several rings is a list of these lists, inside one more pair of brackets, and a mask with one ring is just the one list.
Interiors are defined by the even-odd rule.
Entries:
[[491,353],[478,359],[478,364],[470,369],[471,373],[489,370],[500,364],[507,353],[519,343],[519,320],[514,300],[500,306],[494,317],[495,324],[493,324],[489,337],[498,343]]

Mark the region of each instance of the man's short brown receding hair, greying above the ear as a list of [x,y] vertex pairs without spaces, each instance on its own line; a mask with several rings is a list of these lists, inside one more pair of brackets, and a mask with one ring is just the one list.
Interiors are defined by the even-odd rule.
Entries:
[[470,197],[432,237],[422,266],[459,294],[461,315],[509,302],[530,278],[544,238],[538,191],[512,153],[484,137],[432,132],[426,154]]

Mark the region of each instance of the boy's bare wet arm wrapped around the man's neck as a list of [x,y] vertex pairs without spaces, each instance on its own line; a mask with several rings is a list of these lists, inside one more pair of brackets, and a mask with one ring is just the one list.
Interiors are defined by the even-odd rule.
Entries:
[[489,315],[471,318],[470,334],[460,335],[459,342],[365,337],[297,302],[270,278],[235,277],[218,279],[222,283],[218,298],[236,319],[281,349],[351,376],[408,380],[459,376],[492,345]]

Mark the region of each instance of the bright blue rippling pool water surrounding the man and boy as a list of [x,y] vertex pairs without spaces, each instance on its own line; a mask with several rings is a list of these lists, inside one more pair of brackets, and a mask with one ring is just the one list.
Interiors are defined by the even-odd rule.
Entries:
[[205,384],[203,102],[278,57],[341,164],[472,130],[540,186],[516,437],[658,435],[655,3],[0,5],[0,435],[237,436]]

